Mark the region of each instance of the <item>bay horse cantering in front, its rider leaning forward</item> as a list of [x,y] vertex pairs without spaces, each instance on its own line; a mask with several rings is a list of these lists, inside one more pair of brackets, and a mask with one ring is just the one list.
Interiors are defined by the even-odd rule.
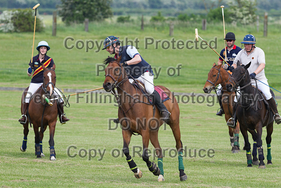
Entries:
[[[158,181],[164,181],[163,175],[163,154],[162,149],[158,141],[159,127],[164,123],[161,120],[159,110],[155,105],[151,105],[149,100],[142,94],[141,90],[132,85],[126,74],[125,68],[120,64],[121,57],[116,61],[114,58],[107,58],[104,63],[108,65],[105,69],[105,81],[103,87],[107,92],[112,92],[118,102],[118,118],[122,125],[123,135],[123,153],[126,156],[126,160],[131,171],[134,172],[136,178],[141,178],[142,172],[138,169],[136,163],[133,161],[129,154],[129,143],[134,133],[140,134],[142,137],[143,153],[142,159],[146,162],[149,171],[158,176]],[[183,164],[183,144],[181,141],[181,133],[179,127],[179,106],[172,95],[172,92],[164,86],[157,86],[161,88],[170,97],[164,104],[171,112],[170,119],[167,120],[167,124],[172,129],[173,136],[176,141],[176,149],[178,152],[179,160],[179,176],[181,181],[187,180],[187,175],[184,172]],[[115,93],[117,88],[117,93]],[[160,94],[161,96],[161,94]],[[156,163],[149,160],[148,145],[149,140],[156,149],[158,157],[158,167]]]

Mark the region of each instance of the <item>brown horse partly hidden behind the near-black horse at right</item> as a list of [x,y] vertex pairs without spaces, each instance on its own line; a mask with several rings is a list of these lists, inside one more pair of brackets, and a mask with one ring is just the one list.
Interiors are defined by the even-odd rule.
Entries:
[[[203,87],[205,93],[210,93],[211,90],[215,90],[220,84],[223,91],[222,94],[222,107],[224,110],[224,118],[226,122],[232,117],[233,104],[234,104],[234,91],[228,92],[226,90],[226,83],[229,81],[231,74],[227,72],[221,65],[213,64],[210,72],[208,73],[208,79]],[[228,133],[230,137],[230,142],[232,146],[232,153],[238,153],[239,149],[239,122],[237,122],[236,127],[228,126]]]

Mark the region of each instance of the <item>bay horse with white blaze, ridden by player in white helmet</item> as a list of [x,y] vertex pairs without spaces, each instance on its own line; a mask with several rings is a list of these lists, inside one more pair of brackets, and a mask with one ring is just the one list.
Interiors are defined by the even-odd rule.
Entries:
[[[58,117],[58,108],[57,108],[57,102],[54,101],[53,105],[49,105],[44,99],[43,95],[50,98],[53,96],[53,90],[56,86],[56,73],[54,65],[52,69],[47,69],[44,65],[42,65],[43,68],[43,85],[37,89],[37,91],[32,95],[31,100],[29,102],[28,107],[28,115],[27,115],[27,121],[23,125],[24,130],[24,139],[22,146],[20,150],[22,152],[26,151],[27,148],[27,136],[29,133],[28,124],[29,122],[33,124],[33,130],[35,134],[35,155],[37,158],[41,158],[41,156],[45,156],[42,152],[42,139],[43,139],[43,133],[47,128],[47,125],[49,126],[49,145],[50,145],[50,160],[56,160],[56,153],[54,148],[54,134],[55,134],[55,128],[56,128],[56,122]],[[26,97],[28,88],[25,89],[25,91],[22,94],[21,97],[21,113],[23,113],[23,101]],[[40,133],[39,133],[39,127],[40,127]]]

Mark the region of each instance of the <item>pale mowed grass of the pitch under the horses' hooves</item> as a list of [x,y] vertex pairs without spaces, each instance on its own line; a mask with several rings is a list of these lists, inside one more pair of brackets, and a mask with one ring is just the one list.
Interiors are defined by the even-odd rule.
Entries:
[[[50,161],[48,129],[43,140],[43,152],[46,155],[44,158],[36,159],[34,155],[32,128],[28,136],[27,151],[24,153],[20,151],[23,127],[17,120],[20,116],[21,92],[0,91],[0,96],[0,185],[4,187],[281,186],[281,127],[279,125],[275,125],[272,135],[273,165],[266,165],[266,169],[258,169],[257,166],[247,168],[245,151],[241,150],[238,154],[231,153],[228,128],[223,117],[215,116],[216,105],[209,107],[207,103],[180,103],[181,139],[184,148],[187,149],[184,165],[188,179],[185,182],[179,180],[178,159],[177,156],[173,157],[175,153],[172,150],[175,148],[175,141],[170,127],[166,125],[166,128],[161,126],[159,130],[160,145],[166,150],[163,159],[165,182],[158,183],[157,177],[148,171],[146,164],[137,153],[142,147],[141,136],[133,136],[129,148],[130,154],[135,155],[133,159],[143,172],[143,177],[136,179],[133,172],[129,170],[125,157],[122,156],[121,129],[109,130],[108,119],[115,118],[117,114],[117,107],[112,103],[86,103],[83,99],[76,103],[76,98],[70,98],[70,108],[66,108],[65,111],[71,120],[65,125],[57,123],[54,137],[57,160]],[[278,102],[280,103],[281,100]],[[113,127],[111,125],[111,129]],[[266,156],[265,128],[263,131]],[[242,148],[241,134],[239,141]],[[250,142],[252,144],[251,139]],[[72,148],[67,154],[69,147]],[[151,144],[149,149],[153,150]],[[215,152],[211,154],[213,157],[207,156],[207,151],[210,149]],[[89,150],[92,150],[92,157],[89,155]],[[94,150],[97,152],[96,156]],[[199,150],[202,150],[201,155]],[[98,151],[104,152],[104,156],[101,157]],[[77,156],[71,157],[74,154]],[[150,159],[156,161],[153,157]]]

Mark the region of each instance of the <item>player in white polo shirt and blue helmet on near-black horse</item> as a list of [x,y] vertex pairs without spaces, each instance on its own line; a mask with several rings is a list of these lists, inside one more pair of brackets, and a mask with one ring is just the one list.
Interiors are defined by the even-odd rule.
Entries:
[[[252,34],[247,34],[241,44],[244,44],[244,49],[239,51],[236,58],[233,62],[233,67],[237,67],[237,62],[239,61],[242,65],[247,65],[251,62],[250,67],[248,68],[248,71],[250,73],[251,78],[251,84],[256,85],[256,82],[254,79],[259,80],[261,82],[257,82],[257,87],[263,92],[265,95],[265,99],[267,100],[268,104],[270,105],[272,112],[274,114],[274,121],[277,124],[281,123],[281,117],[278,114],[277,106],[275,103],[274,98],[272,97],[270,93],[270,88],[268,86],[267,79],[265,77],[265,52],[259,48],[256,47],[256,38]],[[234,100],[235,102],[235,100]],[[236,111],[234,104],[234,110]],[[231,119],[228,120],[227,125],[233,126],[234,125],[234,114]]]

